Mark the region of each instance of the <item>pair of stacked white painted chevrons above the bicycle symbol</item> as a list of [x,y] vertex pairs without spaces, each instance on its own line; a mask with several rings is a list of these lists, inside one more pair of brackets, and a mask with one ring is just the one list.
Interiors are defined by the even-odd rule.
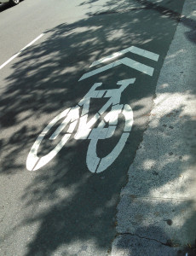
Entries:
[[[151,51],[148,51],[146,49],[140,49],[138,47],[131,46],[129,48],[118,51],[112,55],[108,55],[107,57],[104,57],[104,58],[100,59],[99,61],[94,61],[90,67],[95,67],[96,65],[99,65],[101,63],[105,63],[107,61],[112,61],[113,59],[118,58],[119,56],[124,55],[128,52],[134,53],[135,55],[141,55],[141,56],[143,56],[147,59],[153,60],[153,61],[159,60],[159,55],[157,55]],[[79,79],[79,81],[88,79],[89,77],[92,77],[95,74],[102,73],[112,67],[117,67],[121,64],[123,64],[127,67],[130,67],[130,68],[133,68],[137,71],[140,71],[141,73],[145,73],[149,76],[153,76],[153,71],[154,71],[153,67],[149,67],[147,65],[142,64],[139,61],[134,61],[130,58],[124,57],[123,59],[120,59],[118,61],[113,61],[112,63],[107,64],[106,66],[96,68],[95,70],[90,71],[89,73],[84,73],[84,75]]]

